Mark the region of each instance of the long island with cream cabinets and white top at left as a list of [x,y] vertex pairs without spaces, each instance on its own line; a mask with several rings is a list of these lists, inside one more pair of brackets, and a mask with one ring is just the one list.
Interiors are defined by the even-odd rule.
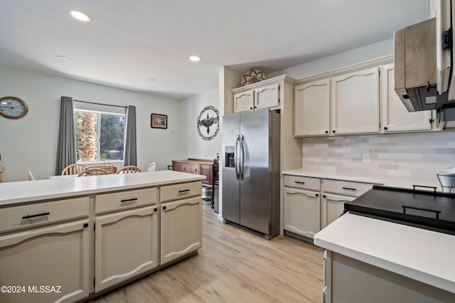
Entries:
[[88,300],[196,254],[203,179],[155,171],[0,184],[0,302]]

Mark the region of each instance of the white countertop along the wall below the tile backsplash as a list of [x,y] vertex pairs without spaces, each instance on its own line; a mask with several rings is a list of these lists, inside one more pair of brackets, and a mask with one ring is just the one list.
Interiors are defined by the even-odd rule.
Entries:
[[[442,191],[441,184],[436,174],[428,176],[428,178],[416,178],[413,176],[378,176],[377,174],[348,174],[338,173],[336,171],[308,171],[306,169],[293,169],[282,171],[284,175],[290,176],[307,176],[319,179],[333,179],[353,182],[363,182],[370,184],[382,184],[385,186],[393,186],[400,188],[412,188],[413,185],[434,186],[437,191]],[[417,189],[417,188],[416,188]],[[425,189],[425,188],[419,188]]]

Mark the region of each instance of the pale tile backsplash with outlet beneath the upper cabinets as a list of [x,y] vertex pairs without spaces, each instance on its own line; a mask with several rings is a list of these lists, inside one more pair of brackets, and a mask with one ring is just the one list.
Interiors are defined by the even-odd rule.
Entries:
[[420,178],[455,166],[455,132],[312,137],[302,144],[308,170]]

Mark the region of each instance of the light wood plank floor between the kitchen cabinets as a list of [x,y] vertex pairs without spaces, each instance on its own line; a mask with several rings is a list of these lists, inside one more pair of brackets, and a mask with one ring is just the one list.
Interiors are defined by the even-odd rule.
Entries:
[[267,241],[217,216],[203,205],[198,255],[94,302],[321,302],[321,248],[280,235]]

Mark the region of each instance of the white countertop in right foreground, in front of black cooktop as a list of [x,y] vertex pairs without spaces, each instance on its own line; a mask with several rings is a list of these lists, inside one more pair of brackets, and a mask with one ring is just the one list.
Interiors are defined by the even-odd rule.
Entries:
[[314,244],[455,293],[455,236],[346,213]]

